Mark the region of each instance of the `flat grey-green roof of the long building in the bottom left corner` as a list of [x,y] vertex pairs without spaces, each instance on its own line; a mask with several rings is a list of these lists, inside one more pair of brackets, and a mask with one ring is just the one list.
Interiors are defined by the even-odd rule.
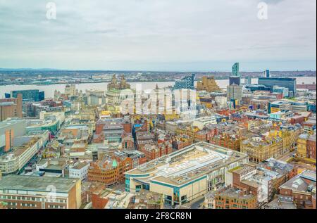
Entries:
[[[56,192],[68,193],[80,179],[36,177],[22,175],[8,175],[0,180],[1,189],[25,191],[51,191],[49,186],[55,186]],[[47,189],[49,188],[49,189]]]

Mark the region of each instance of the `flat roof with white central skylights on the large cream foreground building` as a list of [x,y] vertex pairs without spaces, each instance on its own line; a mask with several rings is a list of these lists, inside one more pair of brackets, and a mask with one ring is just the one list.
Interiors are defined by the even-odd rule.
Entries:
[[152,160],[125,174],[149,174],[151,180],[181,185],[246,157],[244,153],[200,142]]

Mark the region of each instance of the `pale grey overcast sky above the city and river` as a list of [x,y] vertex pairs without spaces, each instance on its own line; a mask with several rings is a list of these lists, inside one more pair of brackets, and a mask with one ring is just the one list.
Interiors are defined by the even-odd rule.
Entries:
[[0,0],[0,68],[316,70],[316,0]]

